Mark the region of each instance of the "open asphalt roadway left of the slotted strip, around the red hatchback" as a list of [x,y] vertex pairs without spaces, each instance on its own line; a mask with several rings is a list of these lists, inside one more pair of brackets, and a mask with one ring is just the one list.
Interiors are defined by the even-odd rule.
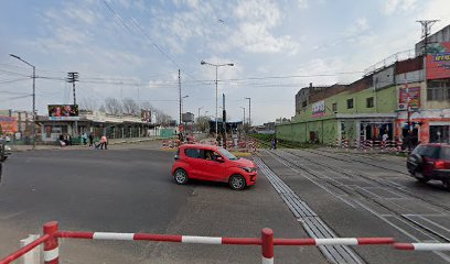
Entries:
[[[108,151],[14,153],[0,183],[0,255],[44,222],[62,230],[210,237],[306,238],[268,180],[244,191],[223,184],[175,185],[173,152],[156,143]],[[260,249],[133,241],[61,241],[62,263],[260,263]],[[280,248],[279,263],[326,263],[315,248]]]

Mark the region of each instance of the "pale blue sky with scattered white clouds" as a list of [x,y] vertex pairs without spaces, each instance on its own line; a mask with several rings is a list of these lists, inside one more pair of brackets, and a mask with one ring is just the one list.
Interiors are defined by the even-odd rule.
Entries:
[[[417,20],[450,24],[450,0],[78,0],[0,1],[0,109],[132,98],[179,119],[216,111],[261,124],[294,116],[294,95],[313,85],[349,84],[384,58],[414,50]],[[222,108],[218,108],[222,112]]]

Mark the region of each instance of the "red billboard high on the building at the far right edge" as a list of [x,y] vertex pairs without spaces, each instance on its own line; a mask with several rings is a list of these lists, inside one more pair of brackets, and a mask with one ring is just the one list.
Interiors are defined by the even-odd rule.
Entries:
[[427,79],[450,78],[450,42],[427,47]]

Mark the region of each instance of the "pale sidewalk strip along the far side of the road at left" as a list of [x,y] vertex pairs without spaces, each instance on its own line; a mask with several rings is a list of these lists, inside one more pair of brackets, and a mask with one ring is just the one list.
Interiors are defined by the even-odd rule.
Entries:
[[[108,140],[108,145],[118,145],[118,144],[133,144],[133,143],[141,143],[141,142],[149,142],[149,141],[158,141],[163,140],[161,138],[131,138],[131,139],[110,139]],[[24,151],[32,151],[32,145],[10,145],[12,152],[24,152]],[[39,145],[36,144],[35,151],[44,151],[44,150],[86,150],[89,148],[89,145],[72,145],[72,146],[64,146],[61,147],[60,145]]]

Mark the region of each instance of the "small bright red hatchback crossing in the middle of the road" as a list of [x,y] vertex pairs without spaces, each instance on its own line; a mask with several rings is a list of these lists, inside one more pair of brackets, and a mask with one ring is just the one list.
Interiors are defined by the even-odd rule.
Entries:
[[222,147],[188,144],[176,151],[172,175],[180,185],[189,179],[202,179],[228,183],[232,189],[240,190],[256,183],[258,172],[254,162],[236,157]]

